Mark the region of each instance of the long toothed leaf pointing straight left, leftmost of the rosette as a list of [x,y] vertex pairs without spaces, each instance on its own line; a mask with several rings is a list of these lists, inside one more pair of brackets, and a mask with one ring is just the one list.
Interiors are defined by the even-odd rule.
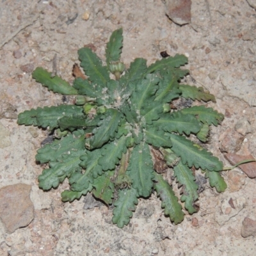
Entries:
[[26,110],[18,116],[18,124],[37,125],[43,128],[49,126],[52,130],[58,127],[58,120],[63,116],[82,114],[83,108],[74,105],[60,105]]

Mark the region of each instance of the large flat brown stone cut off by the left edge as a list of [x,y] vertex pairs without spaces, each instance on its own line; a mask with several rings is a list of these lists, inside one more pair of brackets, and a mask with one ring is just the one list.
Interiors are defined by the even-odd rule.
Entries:
[[0,219],[7,232],[26,227],[34,218],[34,205],[29,198],[31,186],[15,184],[0,189]]

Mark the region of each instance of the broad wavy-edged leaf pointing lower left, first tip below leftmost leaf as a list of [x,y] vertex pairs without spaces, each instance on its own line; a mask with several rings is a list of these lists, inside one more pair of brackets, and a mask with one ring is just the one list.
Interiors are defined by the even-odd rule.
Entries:
[[37,150],[36,161],[48,163],[59,159],[62,154],[68,154],[70,151],[84,149],[84,131],[75,131],[73,134],[54,140],[51,144],[45,144],[44,147]]

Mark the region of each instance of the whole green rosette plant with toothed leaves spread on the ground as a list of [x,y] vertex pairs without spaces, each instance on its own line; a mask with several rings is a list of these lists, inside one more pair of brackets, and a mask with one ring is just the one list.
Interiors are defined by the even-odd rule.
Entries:
[[[38,163],[49,164],[38,177],[40,188],[56,188],[67,178],[70,189],[62,192],[63,201],[92,193],[114,205],[113,223],[120,228],[129,223],[138,198],[156,191],[164,214],[180,223],[182,207],[189,214],[198,210],[191,168],[200,168],[217,191],[227,187],[220,174],[223,163],[196,143],[207,141],[210,126],[220,124],[223,115],[204,104],[173,108],[177,99],[215,101],[202,87],[180,83],[188,74],[180,68],[188,62],[186,56],[176,54],[149,66],[136,58],[125,68],[122,46],[122,29],[117,29],[106,46],[106,65],[91,49],[79,49],[86,78],[76,77],[72,86],[36,68],[33,78],[38,83],[54,93],[77,95],[76,104],[24,111],[18,123],[54,134],[36,154]],[[182,186],[180,199],[166,173]]]

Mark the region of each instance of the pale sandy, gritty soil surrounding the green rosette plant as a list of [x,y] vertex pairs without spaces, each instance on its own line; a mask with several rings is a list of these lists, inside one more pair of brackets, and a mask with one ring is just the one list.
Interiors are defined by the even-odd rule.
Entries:
[[[136,57],[152,63],[165,50],[189,56],[188,83],[216,95],[216,104],[208,105],[225,114],[223,124],[211,131],[207,148],[213,154],[229,165],[219,138],[247,120],[241,143],[227,144],[230,152],[241,148],[241,154],[256,156],[255,10],[245,0],[195,0],[191,24],[185,26],[174,24],[164,12],[161,0],[1,1],[0,188],[31,185],[35,216],[12,234],[0,223],[0,255],[255,255],[255,237],[243,238],[241,227],[245,217],[256,218],[256,182],[238,168],[224,173],[225,193],[206,186],[200,211],[186,215],[179,225],[164,217],[156,196],[140,199],[131,223],[120,229],[111,224],[111,209],[105,206],[84,210],[83,198],[61,202],[67,182],[47,193],[38,189],[43,167],[36,165],[35,154],[47,131],[19,126],[15,118],[63,99],[36,84],[31,71],[38,66],[51,70],[57,54],[58,75],[72,81],[77,50],[92,43],[104,58],[111,31],[121,26],[126,64]],[[234,211],[227,208],[230,198],[238,205]]]

